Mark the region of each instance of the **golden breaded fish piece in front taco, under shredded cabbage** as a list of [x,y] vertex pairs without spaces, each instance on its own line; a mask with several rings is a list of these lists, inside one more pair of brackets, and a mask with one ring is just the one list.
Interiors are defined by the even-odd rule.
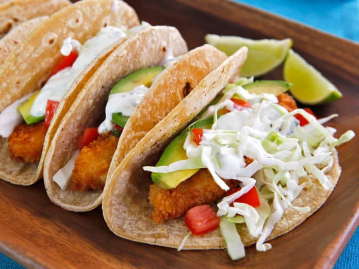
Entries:
[[[238,181],[224,180],[230,189],[236,188]],[[200,169],[176,188],[164,190],[156,184],[149,187],[149,203],[153,206],[152,219],[161,223],[179,218],[194,206],[217,201],[226,193],[207,169]]]

